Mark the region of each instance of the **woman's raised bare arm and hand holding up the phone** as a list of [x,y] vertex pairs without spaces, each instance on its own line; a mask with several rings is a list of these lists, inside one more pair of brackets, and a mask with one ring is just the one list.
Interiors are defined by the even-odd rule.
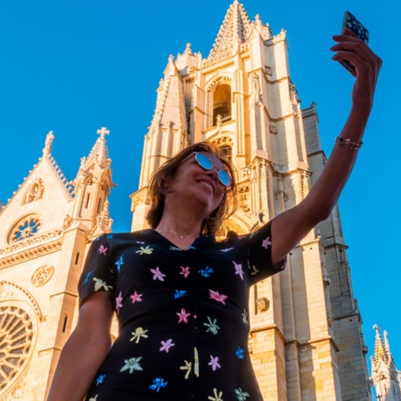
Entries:
[[[340,136],[352,143],[362,142],[364,129],[372,110],[374,89],[381,69],[381,59],[347,29],[345,35],[335,36],[338,42],[331,47],[337,52],[333,60],[351,61],[356,67],[352,91],[352,106]],[[278,263],[316,224],[329,217],[339,200],[356,162],[356,149],[335,145],[331,155],[307,197],[292,209],[286,210],[272,222],[273,262]]]

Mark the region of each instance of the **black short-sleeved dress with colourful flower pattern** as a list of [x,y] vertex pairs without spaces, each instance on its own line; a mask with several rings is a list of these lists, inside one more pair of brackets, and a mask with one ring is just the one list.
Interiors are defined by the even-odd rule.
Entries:
[[79,297],[110,291],[119,337],[90,401],[262,400],[248,352],[250,285],[271,262],[270,225],[181,250],[154,230],[103,234],[91,245]]

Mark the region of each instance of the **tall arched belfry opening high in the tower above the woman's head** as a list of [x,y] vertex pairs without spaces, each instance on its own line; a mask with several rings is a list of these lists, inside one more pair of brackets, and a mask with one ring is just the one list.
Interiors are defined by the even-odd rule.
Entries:
[[207,116],[206,127],[215,127],[232,119],[233,79],[217,74],[206,87]]

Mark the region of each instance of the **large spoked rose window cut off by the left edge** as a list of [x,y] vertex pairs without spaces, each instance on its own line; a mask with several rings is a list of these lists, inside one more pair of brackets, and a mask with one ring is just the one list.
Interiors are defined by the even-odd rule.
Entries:
[[20,307],[0,308],[0,391],[20,371],[29,356],[33,326]]

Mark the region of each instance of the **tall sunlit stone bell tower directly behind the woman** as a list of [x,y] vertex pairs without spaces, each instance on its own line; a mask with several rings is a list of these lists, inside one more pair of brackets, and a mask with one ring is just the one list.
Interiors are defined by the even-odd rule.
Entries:
[[[189,143],[225,148],[240,208],[223,230],[247,233],[301,201],[321,172],[315,104],[302,110],[286,32],[273,35],[238,0],[207,58],[170,56],[143,146],[132,229],[146,227],[151,173]],[[339,210],[291,252],[287,269],[250,293],[250,352],[265,399],[371,400]]]

